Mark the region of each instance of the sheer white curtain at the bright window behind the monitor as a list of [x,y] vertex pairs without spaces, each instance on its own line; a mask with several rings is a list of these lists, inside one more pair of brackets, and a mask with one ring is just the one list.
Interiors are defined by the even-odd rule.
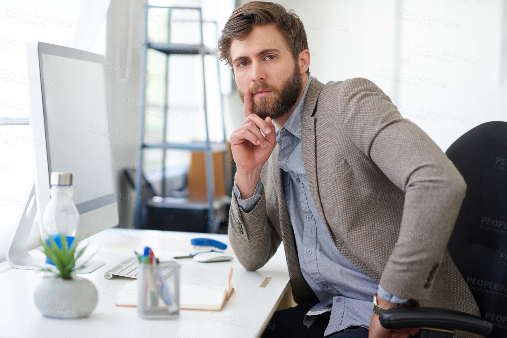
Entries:
[[[29,116],[26,49],[39,41],[105,54],[110,0],[7,0],[0,2],[0,121]],[[17,227],[34,175],[27,125],[0,125],[0,262]],[[37,143],[36,143],[37,144]],[[0,269],[1,270],[1,269]]]

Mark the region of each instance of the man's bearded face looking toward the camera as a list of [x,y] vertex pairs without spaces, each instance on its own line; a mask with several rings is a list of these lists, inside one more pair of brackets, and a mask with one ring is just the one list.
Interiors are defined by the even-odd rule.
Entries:
[[296,103],[301,69],[274,25],[255,27],[245,40],[233,40],[230,55],[238,94],[244,102],[249,89],[254,114],[277,119]]

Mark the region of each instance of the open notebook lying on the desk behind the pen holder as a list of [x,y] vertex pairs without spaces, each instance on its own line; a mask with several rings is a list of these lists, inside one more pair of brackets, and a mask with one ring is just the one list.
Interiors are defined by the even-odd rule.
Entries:
[[[221,278],[223,273],[208,270],[187,273],[182,276],[184,282],[179,284],[179,308],[184,310],[216,310],[221,311],[229,300],[234,288],[231,285],[232,268],[229,279]],[[140,294],[138,280],[126,283],[120,290],[117,306],[137,306]]]

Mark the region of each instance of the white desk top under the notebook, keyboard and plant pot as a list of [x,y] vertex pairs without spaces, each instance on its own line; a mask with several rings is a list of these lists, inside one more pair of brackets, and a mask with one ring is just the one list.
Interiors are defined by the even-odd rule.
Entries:
[[[116,306],[121,287],[130,278],[113,277],[106,280],[104,272],[133,256],[133,249],[141,251],[150,246],[161,260],[175,255],[194,252],[190,239],[213,238],[227,243],[227,252],[233,255],[227,235],[160,232],[153,230],[110,229],[90,237],[92,245],[87,254],[105,262],[105,266],[90,274],[79,274],[93,281],[98,290],[98,304],[84,319],[54,319],[44,317],[35,308],[33,291],[44,272],[12,269],[0,273],[0,337],[259,337],[269,318],[288,288],[288,271],[280,244],[267,264],[253,272],[246,271],[235,258],[226,262],[200,263],[191,258],[178,259],[183,269],[192,265],[223,270],[234,269],[234,293],[223,311],[180,310],[179,319],[147,320],[137,315],[137,308]],[[0,271],[8,268],[0,264]],[[227,274],[228,275],[228,274]],[[261,288],[265,277],[273,277],[267,287]]]

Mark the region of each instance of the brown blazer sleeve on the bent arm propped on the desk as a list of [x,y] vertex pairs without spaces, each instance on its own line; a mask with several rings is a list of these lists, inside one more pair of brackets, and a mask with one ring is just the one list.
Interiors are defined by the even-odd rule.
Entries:
[[273,256],[281,239],[266,213],[266,195],[261,183],[261,197],[246,212],[238,205],[234,191],[229,210],[229,242],[234,254],[247,271],[262,268]]

